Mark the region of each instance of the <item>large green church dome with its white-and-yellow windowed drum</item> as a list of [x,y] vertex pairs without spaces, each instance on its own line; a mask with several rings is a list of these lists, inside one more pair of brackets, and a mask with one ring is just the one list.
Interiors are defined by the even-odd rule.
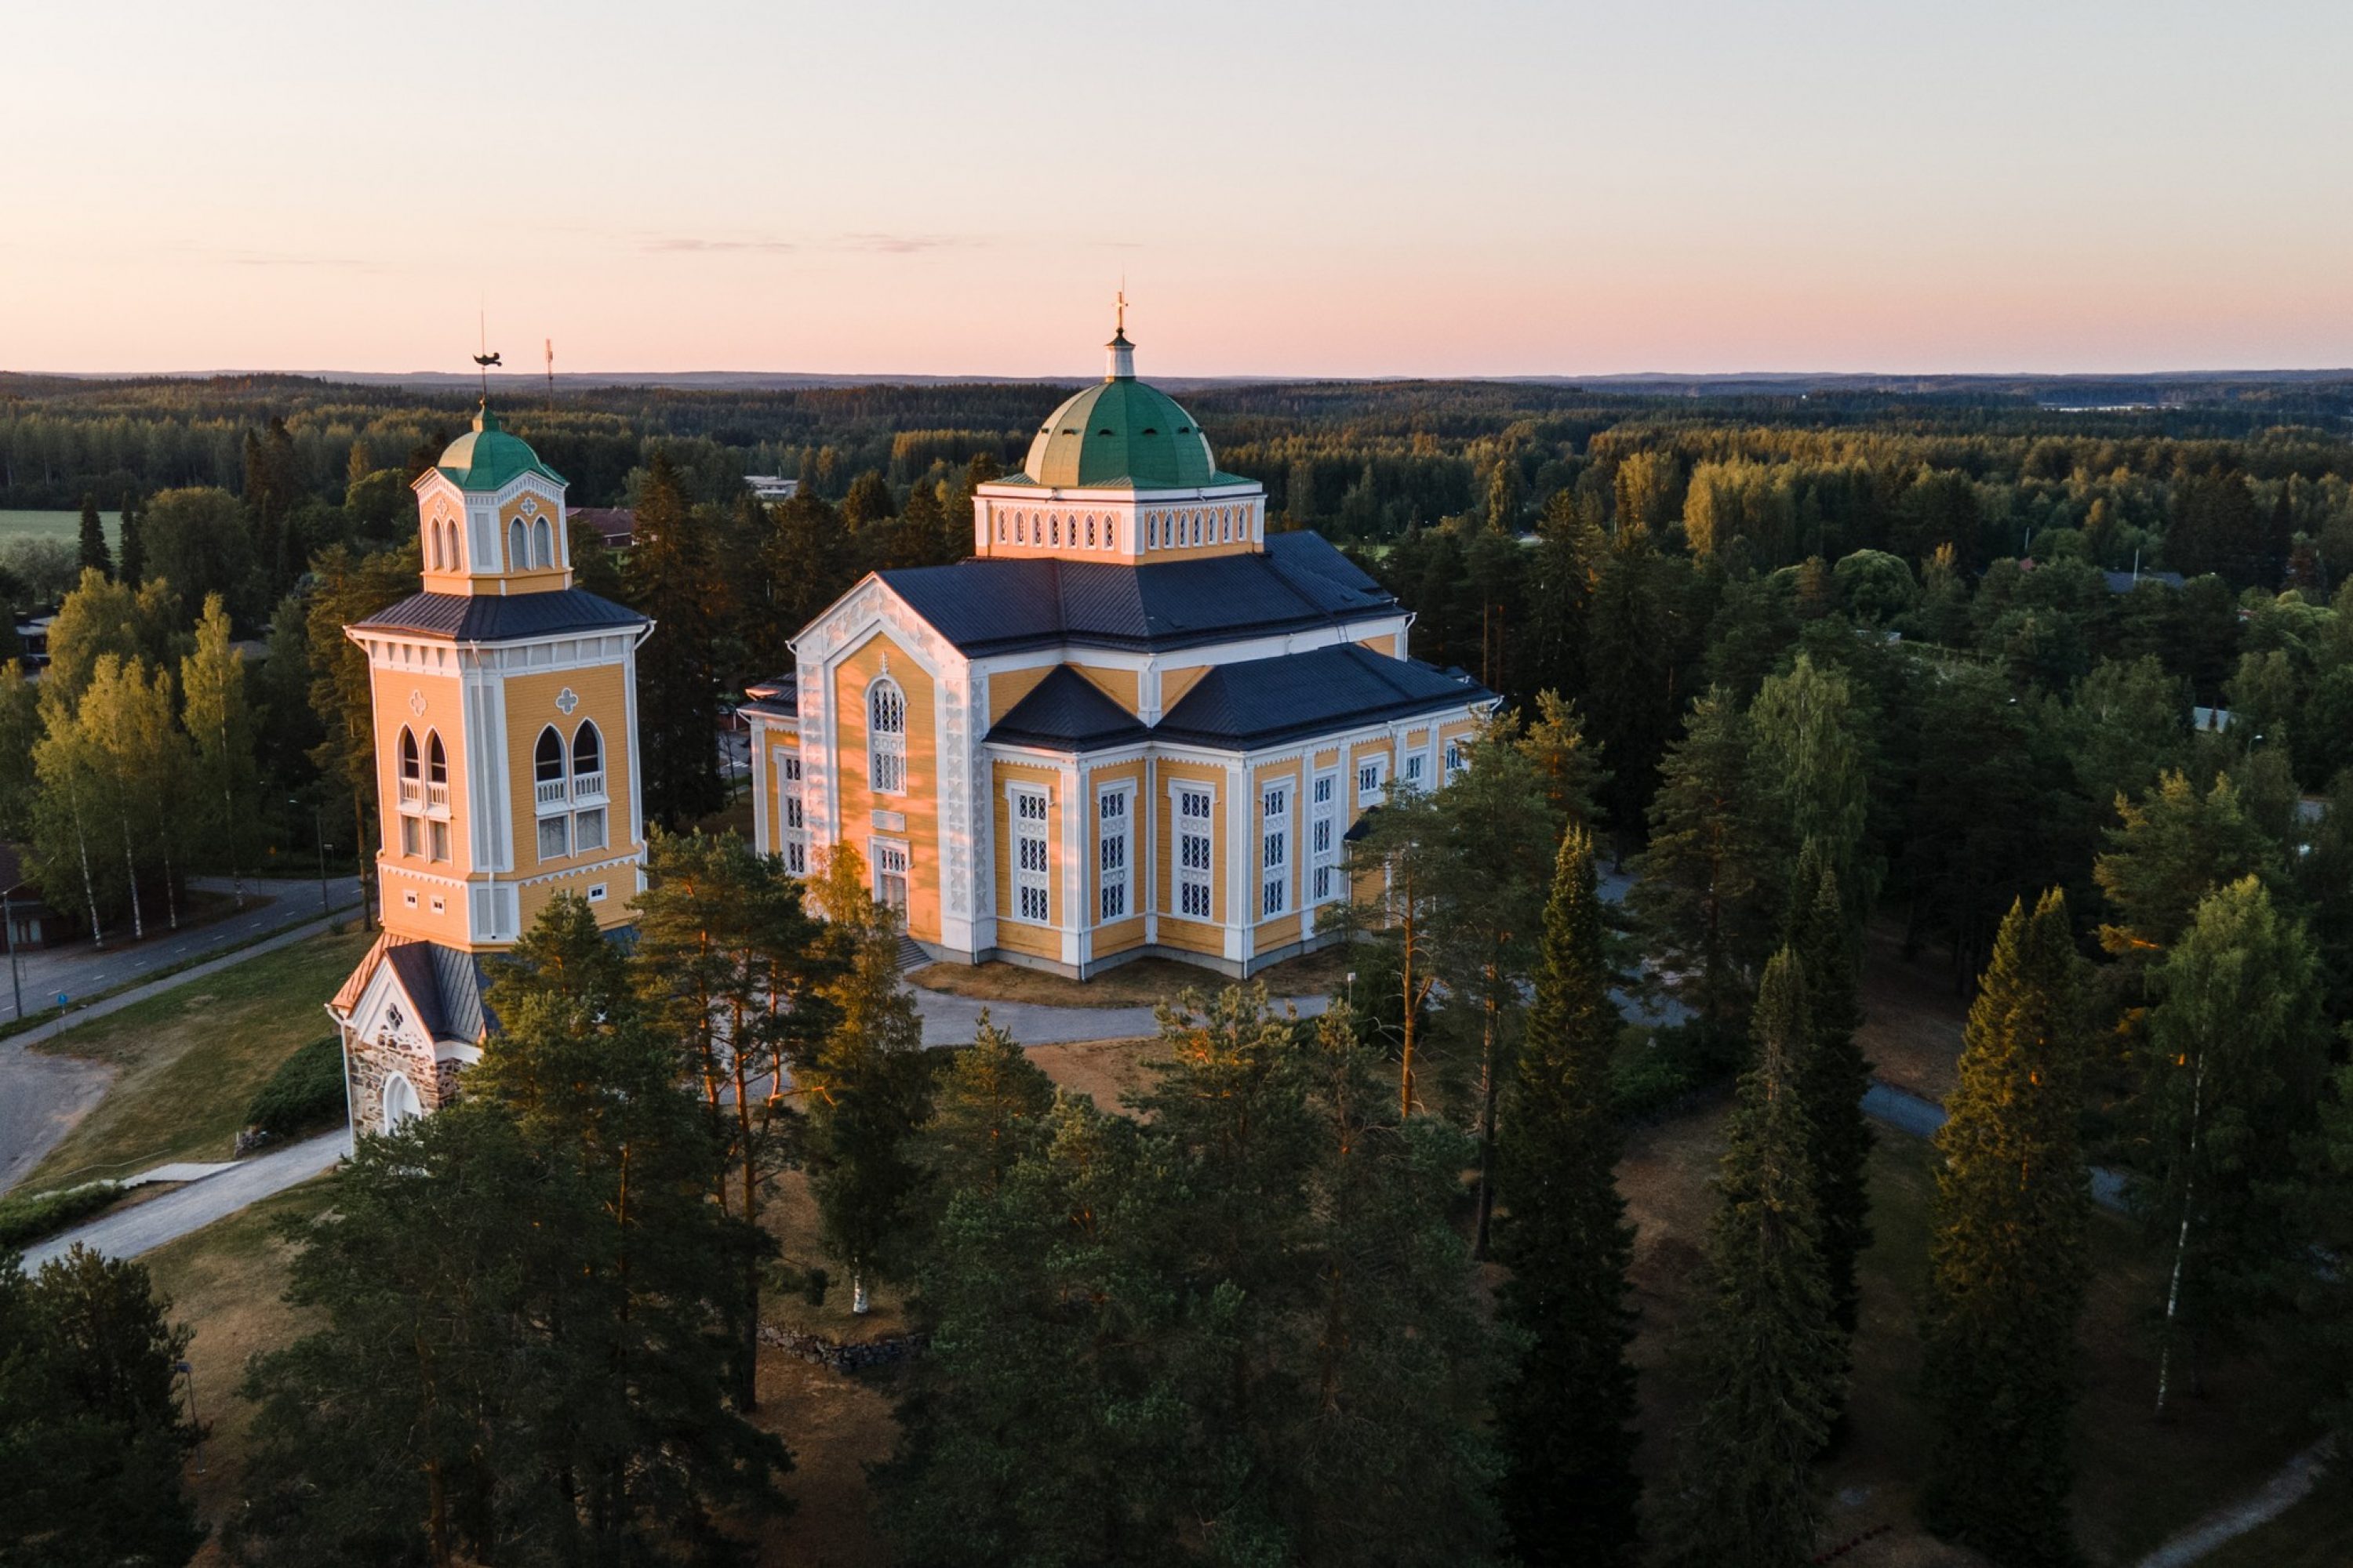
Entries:
[[1266,487],[1219,473],[1174,397],[1136,381],[1125,320],[1111,374],[1066,397],[1021,473],[972,496],[974,555],[1141,564],[1266,548]]

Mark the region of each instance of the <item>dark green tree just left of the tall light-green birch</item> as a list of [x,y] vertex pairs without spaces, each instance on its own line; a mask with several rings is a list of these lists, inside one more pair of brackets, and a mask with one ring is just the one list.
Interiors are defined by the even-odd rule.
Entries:
[[1635,860],[1628,903],[1652,936],[1668,987],[1706,1030],[1729,1037],[1772,926],[1751,729],[1727,691],[1718,686],[1692,703],[1682,741],[1659,773],[1649,849]]

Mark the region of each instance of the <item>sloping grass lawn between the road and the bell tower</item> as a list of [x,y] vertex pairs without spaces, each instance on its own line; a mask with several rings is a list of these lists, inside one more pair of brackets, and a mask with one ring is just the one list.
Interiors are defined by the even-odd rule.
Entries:
[[332,1030],[327,999],[369,933],[313,936],[42,1041],[115,1067],[106,1098],[21,1182],[26,1192],[174,1159],[228,1159],[254,1091]]

